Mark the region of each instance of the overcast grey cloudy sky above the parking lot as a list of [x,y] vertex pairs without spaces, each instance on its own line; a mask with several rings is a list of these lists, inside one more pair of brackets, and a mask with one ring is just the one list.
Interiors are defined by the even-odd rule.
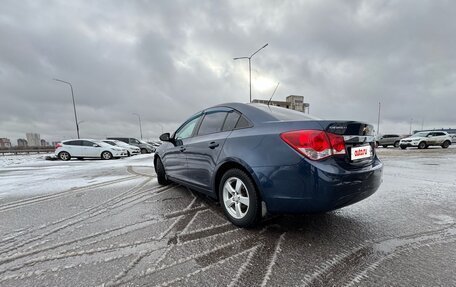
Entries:
[[455,1],[2,1],[0,137],[144,138],[224,102],[303,95],[380,132],[456,128]]

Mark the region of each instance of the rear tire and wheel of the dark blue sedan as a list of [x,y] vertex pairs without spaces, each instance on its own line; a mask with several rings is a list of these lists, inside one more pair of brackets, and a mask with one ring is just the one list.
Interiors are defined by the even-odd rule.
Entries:
[[253,180],[240,169],[230,169],[219,184],[219,201],[225,216],[239,227],[252,227],[261,218],[261,201]]

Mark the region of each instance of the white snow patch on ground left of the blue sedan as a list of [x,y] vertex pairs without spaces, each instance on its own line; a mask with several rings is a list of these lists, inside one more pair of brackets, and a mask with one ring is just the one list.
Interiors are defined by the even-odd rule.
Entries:
[[153,172],[153,155],[115,160],[45,160],[47,155],[0,157],[0,199],[61,192],[122,179],[135,174],[128,167],[146,167]]

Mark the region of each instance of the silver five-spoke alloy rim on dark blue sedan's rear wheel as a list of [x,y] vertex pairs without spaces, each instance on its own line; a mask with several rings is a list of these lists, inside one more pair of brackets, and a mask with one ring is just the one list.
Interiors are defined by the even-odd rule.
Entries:
[[237,177],[230,177],[223,185],[223,203],[228,213],[242,219],[249,211],[249,191],[244,182]]

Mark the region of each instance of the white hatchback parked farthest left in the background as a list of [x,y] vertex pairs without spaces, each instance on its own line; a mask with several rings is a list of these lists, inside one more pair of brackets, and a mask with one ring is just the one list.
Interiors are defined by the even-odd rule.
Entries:
[[127,150],[98,140],[75,139],[58,143],[55,147],[55,155],[61,160],[70,160],[72,157],[112,159],[126,157]]

